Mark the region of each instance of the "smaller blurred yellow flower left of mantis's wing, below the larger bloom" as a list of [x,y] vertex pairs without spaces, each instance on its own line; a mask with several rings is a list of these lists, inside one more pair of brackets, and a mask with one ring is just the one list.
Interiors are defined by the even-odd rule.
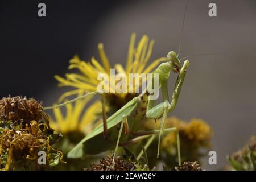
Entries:
[[[79,90],[77,97],[81,96],[84,92]],[[53,113],[55,119],[51,119],[51,126],[62,134],[73,132],[80,132],[84,135],[90,133],[101,122],[98,114],[102,111],[101,101],[95,101],[86,110],[84,109],[92,96],[83,98],[82,100],[75,101],[74,104],[65,105],[65,114],[60,107],[54,108]],[[60,97],[59,102],[63,100]],[[65,100],[67,101],[67,100]]]

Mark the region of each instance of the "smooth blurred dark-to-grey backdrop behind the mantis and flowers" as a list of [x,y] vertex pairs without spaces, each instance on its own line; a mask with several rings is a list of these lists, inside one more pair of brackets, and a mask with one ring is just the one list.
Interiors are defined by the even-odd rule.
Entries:
[[[210,2],[217,17],[208,16]],[[98,57],[104,43],[111,64],[125,64],[132,32],[155,40],[151,60],[177,51],[186,1],[45,1],[47,17],[38,18],[39,1],[0,1],[1,96],[34,96],[51,105],[64,89],[75,53]],[[217,165],[240,149],[256,130],[256,1],[193,0],[188,4],[181,57],[191,57],[178,105],[171,115],[201,118],[214,130]],[[172,75],[174,76],[174,75]],[[170,80],[170,89],[175,78]],[[171,92],[170,92],[171,93]],[[205,160],[207,162],[207,160]]]

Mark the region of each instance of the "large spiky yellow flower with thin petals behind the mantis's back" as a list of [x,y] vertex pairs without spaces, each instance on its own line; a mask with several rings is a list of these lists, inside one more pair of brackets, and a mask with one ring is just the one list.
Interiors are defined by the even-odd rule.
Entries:
[[[152,63],[147,66],[151,57],[154,40],[150,40],[148,36],[143,35],[138,46],[135,47],[135,37],[135,34],[131,35],[126,66],[123,67],[121,64],[114,65],[113,68],[115,68],[117,73],[124,73],[126,76],[128,76],[129,73],[150,73],[160,62],[167,60],[166,57],[160,57],[159,59],[152,61]],[[99,73],[106,73],[110,80],[110,68],[112,67],[110,66],[109,59],[106,56],[102,43],[98,44],[98,51],[100,54],[101,64],[94,57],[92,57],[91,62],[82,61],[77,55],[73,57],[73,59],[69,61],[70,65],[68,68],[79,69],[80,73],[67,73],[65,78],[56,75],[56,80],[60,82],[59,86],[72,86],[76,89],[93,92],[97,90],[97,86],[101,82],[100,80],[97,80]],[[115,83],[110,82],[109,90],[115,89],[116,84],[117,81],[115,81]],[[137,85],[134,84],[133,89],[138,89],[140,86],[141,82]],[[65,93],[65,96],[71,96],[77,92],[78,90],[72,90],[71,92]],[[106,97],[110,103],[118,100],[121,104],[126,104],[126,102],[134,96],[135,94],[131,93],[115,93],[107,94]]]

